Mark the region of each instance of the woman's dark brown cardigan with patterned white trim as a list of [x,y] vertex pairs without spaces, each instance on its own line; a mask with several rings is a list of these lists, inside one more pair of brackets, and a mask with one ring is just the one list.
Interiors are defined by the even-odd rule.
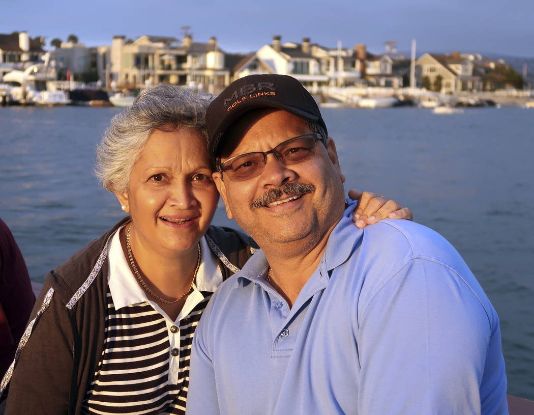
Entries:
[[[46,275],[28,327],[51,295],[50,305],[37,317],[17,360],[6,415],[80,413],[104,346],[107,241],[129,219]],[[223,280],[257,248],[250,237],[230,228],[210,226],[206,235]]]

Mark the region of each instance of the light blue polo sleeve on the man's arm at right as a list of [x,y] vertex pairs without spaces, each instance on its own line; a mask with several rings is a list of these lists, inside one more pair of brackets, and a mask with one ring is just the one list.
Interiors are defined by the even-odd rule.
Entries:
[[506,413],[497,315],[462,276],[413,259],[360,306],[358,413]]

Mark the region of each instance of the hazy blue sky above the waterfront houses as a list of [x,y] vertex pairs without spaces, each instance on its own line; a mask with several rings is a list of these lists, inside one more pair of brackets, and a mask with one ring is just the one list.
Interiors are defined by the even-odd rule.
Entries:
[[422,52],[460,51],[534,57],[534,0],[3,0],[0,33],[26,30],[66,41],[75,34],[86,46],[111,45],[114,35],[217,38],[226,52],[251,52],[280,35],[282,43],[352,48],[364,43],[384,52],[397,41],[408,52],[412,39]]

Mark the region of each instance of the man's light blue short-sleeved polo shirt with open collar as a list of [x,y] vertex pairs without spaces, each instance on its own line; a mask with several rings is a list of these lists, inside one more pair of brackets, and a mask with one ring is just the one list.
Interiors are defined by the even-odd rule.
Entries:
[[458,252],[345,210],[292,309],[258,251],[193,340],[187,414],[505,414],[499,320]]

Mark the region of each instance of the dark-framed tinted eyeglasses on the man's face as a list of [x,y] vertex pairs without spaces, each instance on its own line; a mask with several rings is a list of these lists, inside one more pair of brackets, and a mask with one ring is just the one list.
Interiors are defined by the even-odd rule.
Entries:
[[219,165],[232,181],[253,179],[262,174],[267,155],[272,153],[284,166],[297,164],[315,156],[317,140],[324,140],[319,134],[305,134],[282,141],[269,151],[254,151],[227,159]]

